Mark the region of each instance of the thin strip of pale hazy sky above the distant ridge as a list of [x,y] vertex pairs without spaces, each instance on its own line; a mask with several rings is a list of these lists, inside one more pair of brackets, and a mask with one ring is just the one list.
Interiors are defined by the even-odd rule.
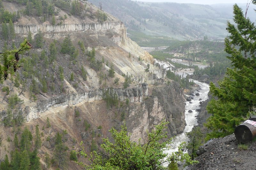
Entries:
[[[247,0],[138,0],[144,2],[176,2],[192,4],[235,4],[247,3]],[[248,1],[250,2],[250,0]]]

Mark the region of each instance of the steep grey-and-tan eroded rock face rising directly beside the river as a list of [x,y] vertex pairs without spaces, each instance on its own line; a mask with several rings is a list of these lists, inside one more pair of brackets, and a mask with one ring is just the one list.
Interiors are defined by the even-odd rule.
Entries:
[[132,133],[133,141],[141,138],[141,143],[147,141],[147,129],[153,129],[163,119],[170,122],[167,129],[168,137],[182,133],[185,128],[184,94],[174,83],[172,86],[157,87],[139,106],[129,111],[128,131]]

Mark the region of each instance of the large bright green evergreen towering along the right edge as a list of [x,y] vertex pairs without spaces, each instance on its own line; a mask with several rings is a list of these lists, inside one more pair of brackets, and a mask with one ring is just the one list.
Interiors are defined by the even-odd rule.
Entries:
[[230,54],[228,59],[233,69],[227,69],[227,77],[219,82],[220,87],[210,84],[210,92],[218,100],[213,99],[207,105],[208,113],[212,114],[205,123],[212,130],[207,139],[234,133],[256,103],[256,28],[237,4],[233,9],[235,24],[228,21],[230,36],[225,39],[225,51]]

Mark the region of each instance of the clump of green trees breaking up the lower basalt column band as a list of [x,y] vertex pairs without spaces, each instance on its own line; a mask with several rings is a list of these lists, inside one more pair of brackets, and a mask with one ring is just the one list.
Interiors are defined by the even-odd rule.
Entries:
[[104,91],[104,89],[103,89],[102,99],[106,101],[107,108],[112,107],[112,106],[117,106],[117,104],[118,104],[118,96],[117,96],[116,92],[114,92],[113,88],[109,88],[106,91]]

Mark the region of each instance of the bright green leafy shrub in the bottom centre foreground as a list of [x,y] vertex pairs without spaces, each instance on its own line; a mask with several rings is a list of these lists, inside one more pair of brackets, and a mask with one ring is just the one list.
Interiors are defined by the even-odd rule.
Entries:
[[[92,169],[163,169],[162,164],[164,162],[177,162],[184,159],[187,163],[195,163],[195,161],[191,161],[187,153],[182,152],[184,143],[180,145],[178,152],[170,156],[164,153],[164,150],[169,149],[166,146],[172,143],[172,139],[166,140],[167,135],[164,129],[167,124],[168,122],[163,121],[155,126],[155,130],[148,132],[146,144],[140,144],[140,141],[138,143],[132,142],[130,140],[131,134],[127,134],[125,124],[121,126],[120,132],[114,128],[110,129],[114,143],[111,143],[108,138],[102,139],[103,144],[100,146],[103,150],[93,152],[94,156],[91,155]],[[83,147],[79,153],[87,157]],[[166,157],[167,159],[164,160]],[[85,166],[83,162],[79,164]]]

